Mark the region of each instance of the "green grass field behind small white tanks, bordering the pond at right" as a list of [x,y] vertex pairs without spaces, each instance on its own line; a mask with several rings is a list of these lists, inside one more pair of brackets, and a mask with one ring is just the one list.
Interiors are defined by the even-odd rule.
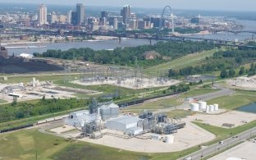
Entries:
[[237,107],[254,103],[256,101],[256,92],[254,91],[236,91],[231,96],[223,96],[209,100],[208,103],[218,103],[221,108],[232,110]]

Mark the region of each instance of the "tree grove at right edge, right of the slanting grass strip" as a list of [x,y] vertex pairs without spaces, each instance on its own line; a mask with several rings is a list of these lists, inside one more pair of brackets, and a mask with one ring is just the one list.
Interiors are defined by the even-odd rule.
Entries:
[[[256,66],[254,63],[249,70],[245,70],[242,64],[254,62],[256,60],[256,50],[226,50],[214,53],[212,57],[206,57],[202,64],[198,66],[186,66],[180,70],[170,69],[169,77],[179,77],[187,75],[197,75],[221,71],[221,78],[234,77],[235,75],[256,75]],[[241,67],[240,67],[241,66]],[[236,74],[235,69],[240,67]]]

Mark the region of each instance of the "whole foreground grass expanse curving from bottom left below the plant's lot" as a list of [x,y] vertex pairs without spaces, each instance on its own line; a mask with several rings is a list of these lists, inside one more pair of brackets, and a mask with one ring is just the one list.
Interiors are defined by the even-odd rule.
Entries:
[[36,152],[38,159],[43,160],[174,160],[197,149],[199,148],[194,147],[176,153],[135,153],[98,144],[71,142],[53,135],[42,134],[35,129],[0,135],[0,158],[5,160],[34,160]]

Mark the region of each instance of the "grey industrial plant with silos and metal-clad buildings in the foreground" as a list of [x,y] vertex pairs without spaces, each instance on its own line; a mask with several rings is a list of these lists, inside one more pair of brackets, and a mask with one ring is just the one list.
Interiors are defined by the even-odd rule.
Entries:
[[[173,143],[173,133],[185,126],[185,122],[168,118],[164,113],[142,111],[139,116],[119,114],[119,106],[112,102],[98,103],[95,99],[89,105],[89,110],[71,112],[66,118],[66,124],[75,126],[81,131],[82,137],[90,139],[112,135],[130,139],[167,139]],[[151,133],[152,135],[144,135]],[[156,138],[158,137],[158,138]],[[166,138],[167,137],[167,138]]]

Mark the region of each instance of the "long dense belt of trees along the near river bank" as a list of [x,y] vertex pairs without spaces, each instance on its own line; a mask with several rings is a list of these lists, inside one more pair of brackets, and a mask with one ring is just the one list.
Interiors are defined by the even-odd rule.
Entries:
[[[213,49],[214,45],[207,42],[158,42],[154,45],[143,45],[130,48],[115,48],[112,51],[95,51],[91,48],[71,48],[67,51],[49,49],[43,54],[34,53],[35,57],[54,57],[61,59],[81,59],[99,64],[112,64],[121,66],[135,66],[138,62],[140,66],[153,66],[162,62],[167,62],[165,58],[176,59],[190,53],[202,52]],[[161,55],[153,60],[146,60],[145,52],[155,51]]]

